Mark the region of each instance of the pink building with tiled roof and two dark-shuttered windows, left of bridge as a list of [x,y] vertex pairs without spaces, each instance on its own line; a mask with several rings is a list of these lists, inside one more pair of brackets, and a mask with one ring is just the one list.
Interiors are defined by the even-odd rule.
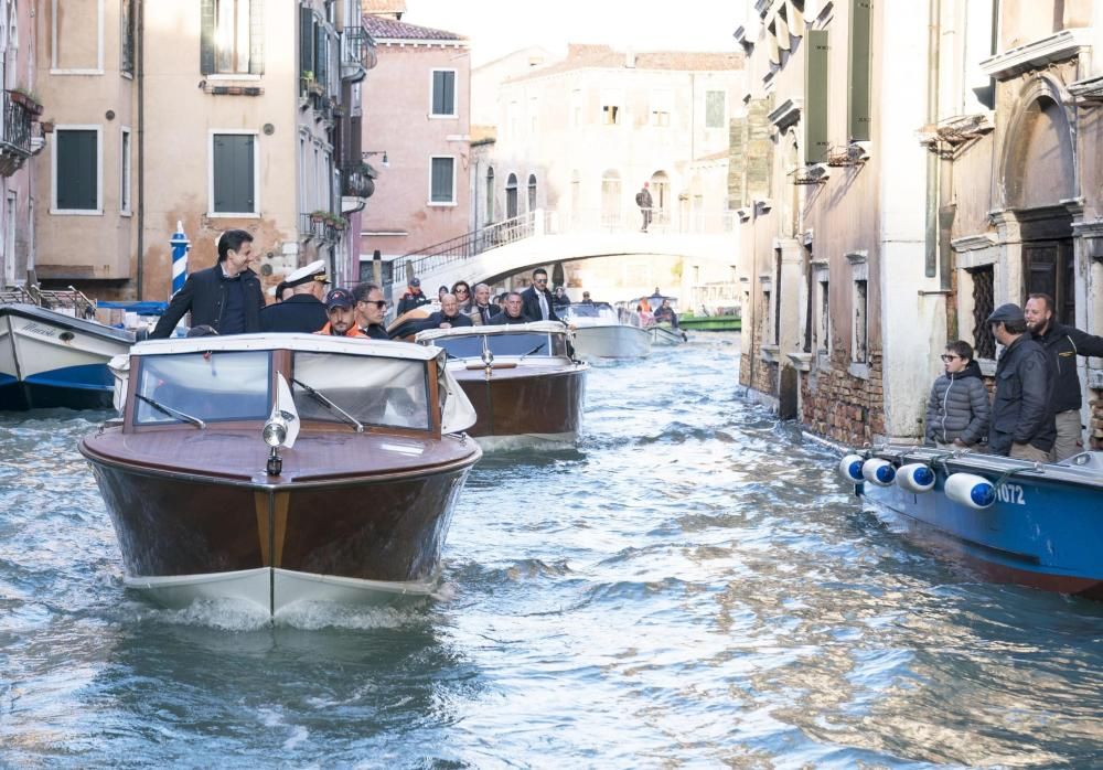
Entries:
[[363,215],[367,260],[468,232],[471,55],[452,32],[371,14],[364,26],[378,55],[363,86],[363,150],[378,172]]

